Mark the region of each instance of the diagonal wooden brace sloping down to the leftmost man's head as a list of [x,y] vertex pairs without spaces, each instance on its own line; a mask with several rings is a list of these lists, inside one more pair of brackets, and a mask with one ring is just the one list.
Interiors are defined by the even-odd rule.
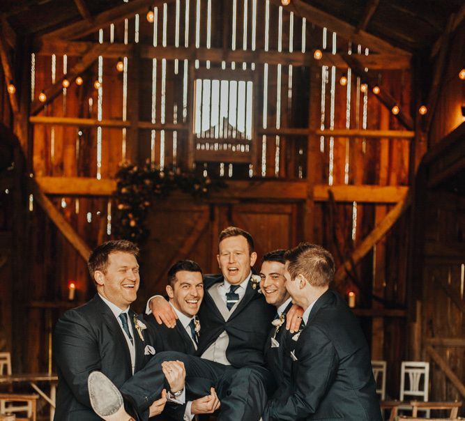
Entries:
[[58,228],[66,240],[69,241],[70,245],[72,245],[75,250],[77,250],[84,261],[87,261],[87,259],[89,259],[89,255],[91,254],[91,249],[89,246],[79,236],[79,234],[77,234],[75,229],[71,227],[70,223],[58,211],[58,209],[56,209],[54,204],[52,204],[52,201],[50,201],[50,199],[45,196],[42,190],[40,190],[39,185],[34,181],[31,183],[31,189],[34,199],[36,199],[36,202],[40,204],[50,220],[52,220],[52,222],[56,225],[56,228]]

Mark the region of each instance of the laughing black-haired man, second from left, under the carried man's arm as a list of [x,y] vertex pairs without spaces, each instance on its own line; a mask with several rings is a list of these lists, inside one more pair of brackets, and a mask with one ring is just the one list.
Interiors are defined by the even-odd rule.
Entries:
[[[179,351],[194,355],[199,343],[200,322],[197,319],[200,304],[204,298],[204,280],[200,266],[192,260],[180,260],[168,270],[166,286],[169,304],[178,319],[174,328],[158,324],[146,309],[145,321],[151,326],[155,335],[156,351]],[[156,420],[187,420],[194,415],[213,413],[220,407],[215,390],[211,394],[184,405],[167,405],[162,415]]]

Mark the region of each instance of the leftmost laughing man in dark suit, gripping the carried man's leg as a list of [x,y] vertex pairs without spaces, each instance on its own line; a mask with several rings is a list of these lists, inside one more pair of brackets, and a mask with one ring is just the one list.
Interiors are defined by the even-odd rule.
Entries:
[[[59,383],[57,421],[93,421],[88,377],[98,370],[121,386],[146,365],[154,353],[151,335],[142,319],[130,310],[139,289],[139,249],[130,241],[108,241],[93,250],[89,272],[97,293],[88,303],[68,310],[56,323],[54,357]],[[171,370],[170,373],[168,373]],[[178,362],[167,362],[164,373],[172,392],[182,390],[185,372]],[[165,378],[158,400],[147,405],[144,416],[157,415],[165,406]],[[152,404],[153,402],[153,404]],[[150,408],[149,408],[150,407]]]

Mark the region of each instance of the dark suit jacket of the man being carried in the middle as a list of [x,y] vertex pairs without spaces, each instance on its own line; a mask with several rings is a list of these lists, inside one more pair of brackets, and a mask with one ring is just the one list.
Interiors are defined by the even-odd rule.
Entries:
[[[204,277],[204,300],[197,316],[201,335],[197,355],[202,355],[225,330],[229,336],[226,356],[233,367],[264,365],[264,345],[275,314],[275,307],[268,305],[259,289],[248,282],[245,295],[226,320],[208,289],[224,282],[222,275]],[[225,305],[224,305],[225,307]]]

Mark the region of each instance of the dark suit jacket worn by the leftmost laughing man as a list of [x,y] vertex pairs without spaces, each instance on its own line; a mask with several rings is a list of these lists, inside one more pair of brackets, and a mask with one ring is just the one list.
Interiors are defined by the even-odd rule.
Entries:
[[[144,342],[134,327],[135,312],[129,311],[135,341],[135,372],[151,355],[144,355],[153,338],[143,330]],[[96,294],[88,303],[68,310],[56,323],[54,357],[58,369],[56,421],[98,421],[91,408],[87,378],[95,370],[116,387],[132,376],[128,344],[112,310]],[[153,344],[152,344],[153,345]]]

